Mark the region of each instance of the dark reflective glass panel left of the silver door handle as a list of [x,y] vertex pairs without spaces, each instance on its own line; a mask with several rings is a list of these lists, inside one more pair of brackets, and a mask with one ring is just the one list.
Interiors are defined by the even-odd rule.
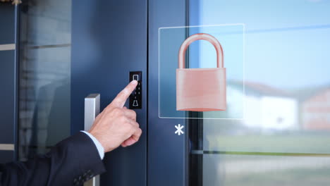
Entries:
[[20,20],[18,158],[70,135],[71,1],[24,1]]

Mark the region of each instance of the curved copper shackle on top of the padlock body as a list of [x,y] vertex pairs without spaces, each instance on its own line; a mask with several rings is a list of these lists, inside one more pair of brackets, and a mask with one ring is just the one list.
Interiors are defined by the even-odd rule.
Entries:
[[206,40],[214,46],[214,48],[216,49],[216,67],[224,68],[224,51],[222,50],[221,44],[215,37],[205,33],[191,35],[181,44],[178,53],[178,68],[185,68],[185,51],[188,49],[188,46],[192,42],[195,42],[200,39]]

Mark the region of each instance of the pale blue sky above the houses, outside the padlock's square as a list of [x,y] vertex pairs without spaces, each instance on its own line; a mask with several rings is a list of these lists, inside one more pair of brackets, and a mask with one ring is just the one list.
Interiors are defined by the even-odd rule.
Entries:
[[330,86],[329,0],[200,0],[191,6],[198,8],[190,25],[245,25],[246,81],[281,89]]

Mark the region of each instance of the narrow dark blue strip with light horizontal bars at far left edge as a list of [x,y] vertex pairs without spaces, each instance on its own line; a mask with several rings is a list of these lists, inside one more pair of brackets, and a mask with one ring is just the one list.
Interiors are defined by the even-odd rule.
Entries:
[[0,163],[6,163],[17,159],[18,147],[19,6],[1,4],[0,12]]

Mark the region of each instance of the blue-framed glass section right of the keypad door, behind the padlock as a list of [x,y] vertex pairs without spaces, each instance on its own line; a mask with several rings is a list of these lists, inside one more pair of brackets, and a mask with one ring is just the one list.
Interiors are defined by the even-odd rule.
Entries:
[[[329,7],[149,1],[149,185],[329,183]],[[178,113],[180,46],[200,32],[222,45],[227,108]],[[186,53],[186,68],[216,68],[212,44]]]

